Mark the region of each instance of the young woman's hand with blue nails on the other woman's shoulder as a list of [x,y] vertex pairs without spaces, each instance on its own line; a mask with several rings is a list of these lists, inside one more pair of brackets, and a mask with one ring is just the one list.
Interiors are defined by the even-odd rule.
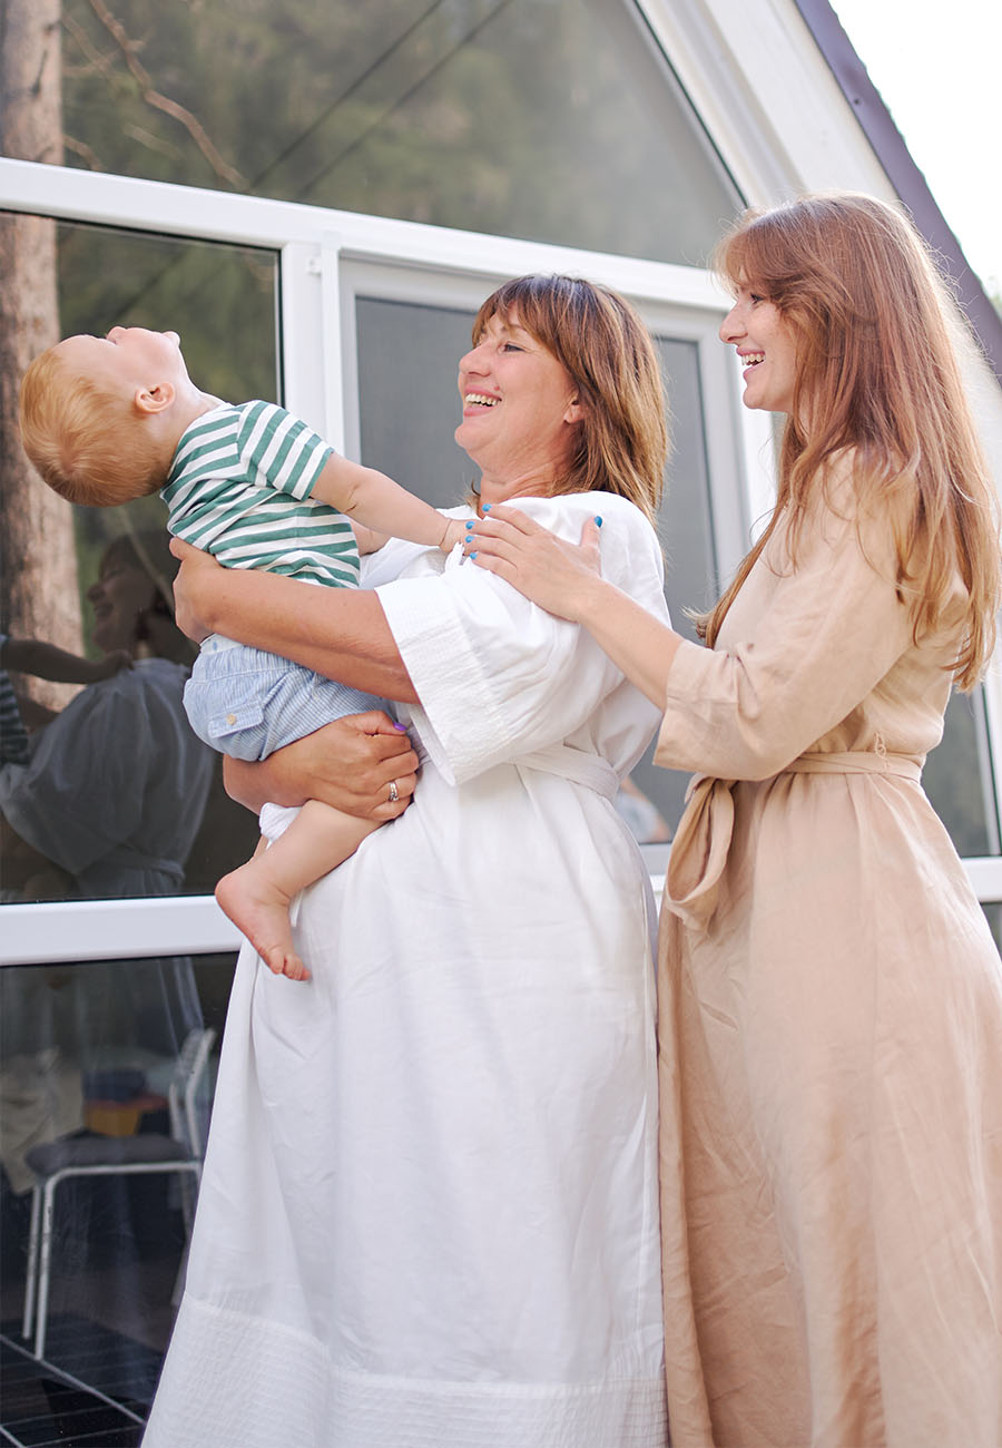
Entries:
[[465,552],[540,608],[578,623],[601,581],[601,518],[589,518],[581,544],[565,543],[517,508],[494,504],[468,533]]

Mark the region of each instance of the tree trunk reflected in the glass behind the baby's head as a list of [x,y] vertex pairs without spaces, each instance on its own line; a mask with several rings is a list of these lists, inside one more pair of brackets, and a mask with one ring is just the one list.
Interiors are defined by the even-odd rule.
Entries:
[[[3,0],[0,152],[19,161],[62,162],[61,10],[61,0]],[[39,481],[17,436],[22,374],[59,339],[55,223],[0,214],[0,627],[78,653],[72,508]],[[30,692],[67,698],[59,685]]]

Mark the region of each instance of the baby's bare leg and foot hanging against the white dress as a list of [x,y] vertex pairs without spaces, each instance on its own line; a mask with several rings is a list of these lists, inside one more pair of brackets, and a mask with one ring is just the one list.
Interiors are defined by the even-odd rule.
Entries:
[[246,864],[219,882],[220,906],[277,976],[310,977],[292,948],[292,896],[346,860],[378,828],[375,820],[356,820],[310,799],[278,840],[255,850]]

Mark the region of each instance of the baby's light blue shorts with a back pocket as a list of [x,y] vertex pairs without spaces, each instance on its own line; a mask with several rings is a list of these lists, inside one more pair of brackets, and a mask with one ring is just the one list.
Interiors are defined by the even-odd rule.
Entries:
[[332,720],[385,710],[387,702],[278,654],[211,634],[184,686],[184,708],[206,744],[232,759],[256,760]]

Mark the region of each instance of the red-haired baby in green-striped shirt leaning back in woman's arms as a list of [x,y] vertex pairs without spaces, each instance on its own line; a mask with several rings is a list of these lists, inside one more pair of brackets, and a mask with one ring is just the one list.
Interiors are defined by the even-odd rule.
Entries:
[[[159,489],[171,533],[227,568],[355,588],[359,546],[378,547],[376,534],[446,553],[462,542],[459,521],[340,458],[284,408],[230,405],[201,392],[175,332],[113,327],[107,337],[67,337],[49,348],[25,374],[20,430],[32,463],[61,497],[109,507]],[[264,759],[379,701],[213,634],[201,644],[184,704],[194,731],[214,749]],[[376,828],[308,801],[278,840],[219,882],[219,904],[271,970],[307,979],[292,946],[290,902]]]

